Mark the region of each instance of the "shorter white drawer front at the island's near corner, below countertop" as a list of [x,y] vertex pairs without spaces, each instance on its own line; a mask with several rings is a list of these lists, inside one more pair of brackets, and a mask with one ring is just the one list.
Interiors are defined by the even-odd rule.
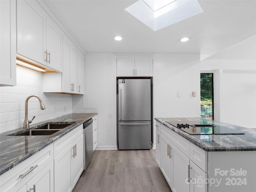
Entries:
[[190,160],[207,172],[207,152],[190,143]]

